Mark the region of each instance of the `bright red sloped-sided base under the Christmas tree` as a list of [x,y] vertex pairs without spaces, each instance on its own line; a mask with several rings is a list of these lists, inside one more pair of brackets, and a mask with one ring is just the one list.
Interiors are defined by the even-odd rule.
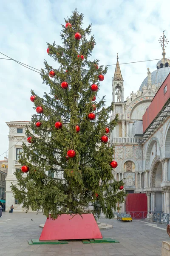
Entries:
[[62,214],[56,220],[47,218],[39,240],[74,240],[102,238],[93,214]]

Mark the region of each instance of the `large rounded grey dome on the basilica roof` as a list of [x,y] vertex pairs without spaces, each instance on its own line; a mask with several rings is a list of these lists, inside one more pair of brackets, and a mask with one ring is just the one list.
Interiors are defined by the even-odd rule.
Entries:
[[[154,84],[156,86],[156,88],[159,88],[161,86],[161,84],[164,82],[164,80],[167,78],[167,76],[170,73],[170,67],[163,67],[163,68],[159,68],[155,71],[153,71],[151,73],[151,81],[152,81],[152,85]],[[147,79],[148,77],[146,77],[144,79],[144,81],[142,82],[139,90],[142,91],[142,87],[145,85],[147,86]]]

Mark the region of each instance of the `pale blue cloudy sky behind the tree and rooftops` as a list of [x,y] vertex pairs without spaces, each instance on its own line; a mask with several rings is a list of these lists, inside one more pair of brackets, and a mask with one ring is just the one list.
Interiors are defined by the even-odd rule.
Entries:
[[[64,18],[70,17],[74,8],[84,14],[83,28],[92,23],[96,46],[92,59],[101,65],[143,61],[161,58],[159,37],[162,30],[170,39],[169,0],[15,0],[0,7],[0,52],[37,69],[44,67],[44,59],[53,67],[57,65],[46,52],[47,44],[61,44],[59,33]],[[170,45],[166,48],[170,57]],[[0,58],[6,58],[0,54]],[[120,65],[124,79],[124,99],[130,92],[139,90],[147,76],[147,67],[153,72],[157,61]],[[109,66],[101,82],[99,97],[112,102],[112,77],[115,66]],[[35,113],[30,101],[30,90],[39,96],[48,92],[40,74],[11,60],[0,59],[0,160],[8,150],[9,128],[6,122],[29,121]],[[8,154],[8,152],[7,152]]]

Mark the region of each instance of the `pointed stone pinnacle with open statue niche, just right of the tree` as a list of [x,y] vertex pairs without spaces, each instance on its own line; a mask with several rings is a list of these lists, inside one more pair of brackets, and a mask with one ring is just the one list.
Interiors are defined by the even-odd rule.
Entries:
[[[124,86],[123,77],[119,66],[119,57],[117,53],[117,63],[114,72],[114,77],[112,80],[113,86],[113,102],[124,102]],[[117,96],[117,99],[116,99]]]

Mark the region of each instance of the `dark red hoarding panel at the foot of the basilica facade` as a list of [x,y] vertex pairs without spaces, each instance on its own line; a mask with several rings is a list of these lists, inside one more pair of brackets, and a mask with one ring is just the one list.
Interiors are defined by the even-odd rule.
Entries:
[[147,217],[147,195],[128,194],[126,197],[126,212],[134,219]]

